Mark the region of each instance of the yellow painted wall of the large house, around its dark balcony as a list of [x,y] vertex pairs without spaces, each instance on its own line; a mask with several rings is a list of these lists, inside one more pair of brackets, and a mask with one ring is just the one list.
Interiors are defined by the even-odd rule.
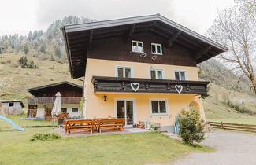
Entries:
[[[115,99],[116,98],[133,98],[135,101],[135,122],[145,121],[150,117],[151,122],[161,123],[161,126],[174,125],[175,116],[185,108],[191,101],[196,101],[200,106],[202,119],[205,115],[202,108],[202,101],[195,94],[136,94],[136,93],[106,93],[94,94],[94,86],[91,83],[93,75],[99,76],[115,76],[117,65],[133,67],[134,78],[150,78],[150,68],[163,68],[164,79],[174,79],[173,70],[186,70],[187,80],[198,80],[197,68],[184,67],[166,64],[143,64],[125,61],[107,61],[87,59],[86,77],[85,77],[85,116],[86,118],[94,117],[107,117],[115,115]],[[103,96],[106,95],[107,99],[104,101]],[[167,116],[150,116],[150,98],[165,98],[168,101],[169,114]]]

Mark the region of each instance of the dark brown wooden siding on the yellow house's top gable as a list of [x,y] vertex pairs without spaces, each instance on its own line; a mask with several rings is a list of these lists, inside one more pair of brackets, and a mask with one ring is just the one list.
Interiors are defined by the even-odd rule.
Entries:
[[[146,57],[140,57],[141,53],[132,52],[132,40],[143,42],[144,52],[147,53]],[[163,55],[152,54],[151,43],[161,44]],[[122,36],[95,39],[91,49],[87,50],[87,58],[181,66],[196,66],[193,54],[195,51],[179,43],[173,43],[173,46],[168,47],[166,38],[150,31],[135,33],[132,38],[128,39],[128,42],[124,42]],[[155,60],[152,59],[153,56],[156,57]]]

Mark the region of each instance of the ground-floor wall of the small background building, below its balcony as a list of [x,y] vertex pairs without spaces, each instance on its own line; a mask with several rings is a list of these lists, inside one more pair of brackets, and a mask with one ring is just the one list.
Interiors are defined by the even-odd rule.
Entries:
[[[54,105],[38,105],[36,117],[44,117],[44,109],[46,108],[53,108]],[[80,116],[80,105],[61,105],[61,108],[67,108],[67,112],[69,116]],[[72,112],[72,108],[78,108],[78,112]]]

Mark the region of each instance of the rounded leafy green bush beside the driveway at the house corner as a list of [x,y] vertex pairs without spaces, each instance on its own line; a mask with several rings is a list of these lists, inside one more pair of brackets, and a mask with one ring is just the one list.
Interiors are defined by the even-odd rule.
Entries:
[[194,142],[201,142],[204,138],[204,125],[200,119],[199,112],[195,108],[191,108],[190,111],[182,110],[180,112],[180,132],[178,135],[187,144],[193,144]]

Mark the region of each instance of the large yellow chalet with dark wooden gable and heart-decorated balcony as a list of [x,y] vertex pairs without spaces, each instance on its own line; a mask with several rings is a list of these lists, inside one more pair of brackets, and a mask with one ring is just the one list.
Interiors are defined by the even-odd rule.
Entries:
[[227,50],[217,42],[150,15],[62,27],[73,79],[83,80],[83,116],[150,121],[174,131],[191,106],[205,114],[196,64]]

